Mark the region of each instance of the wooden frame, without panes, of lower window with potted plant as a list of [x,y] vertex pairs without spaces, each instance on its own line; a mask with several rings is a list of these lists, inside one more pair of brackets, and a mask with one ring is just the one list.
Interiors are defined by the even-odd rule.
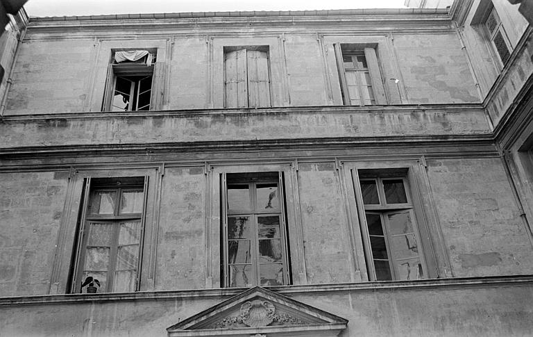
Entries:
[[[144,179],[144,182],[143,182]],[[113,186],[115,185],[115,186]],[[111,187],[113,186],[113,187]],[[141,213],[124,213],[120,214],[120,206],[122,203],[122,192],[142,191],[143,204]],[[115,209],[112,214],[91,214],[90,202],[96,192],[115,192]],[[85,266],[85,257],[87,252],[87,239],[89,236],[90,224],[92,222],[117,224],[112,229],[112,240],[110,246],[110,260],[108,263],[108,277],[106,278],[106,288],[100,289],[101,293],[112,293],[114,273],[117,267],[117,251],[119,247],[119,229],[121,222],[127,220],[139,220],[139,251],[137,252],[137,273],[135,277],[135,289],[140,288],[140,277],[142,268],[142,254],[144,245],[144,228],[146,218],[146,202],[148,197],[148,176],[140,177],[123,177],[123,178],[99,178],[99,179],[85,179],[85,192],[83,195],[83,208],[81,212],[81,220],[78,225],[78,233],[80,235],[77,239],[76,245],[76,259],[74,261],[74,279],[71,282],[71,293],[82,293],[81,283],[83,282],[83,269]]]

